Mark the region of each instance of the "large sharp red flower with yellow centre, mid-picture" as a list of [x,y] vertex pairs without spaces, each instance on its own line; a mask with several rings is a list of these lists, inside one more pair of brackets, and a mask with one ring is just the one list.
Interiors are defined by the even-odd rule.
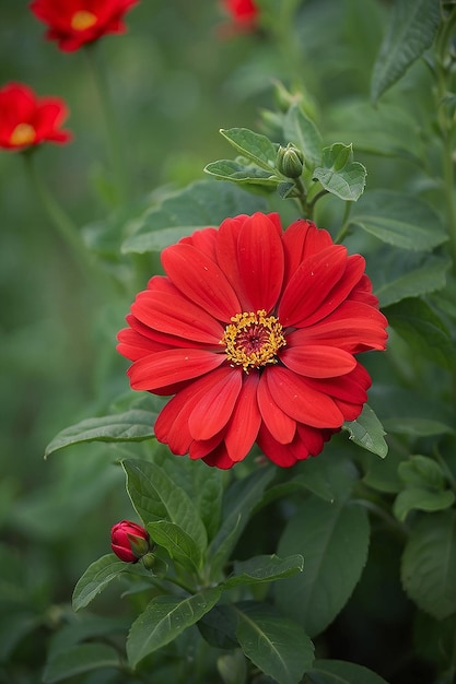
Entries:
[[177,455],[231,468],[256,441],[293,465],[361,413],[371,386],[354,354],[385,349],[387,321],[329,233],[278,214],[226,219],[162,255],[119,332],[131,387],[174,394],[155,435]]

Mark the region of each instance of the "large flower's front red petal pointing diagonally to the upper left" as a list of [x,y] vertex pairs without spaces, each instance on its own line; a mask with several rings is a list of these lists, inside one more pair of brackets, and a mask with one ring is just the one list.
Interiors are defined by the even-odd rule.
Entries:
[[174,285],[219,320],[241,314],[239,302],[219,266],[191,245],[177,244],[162,252],[162,263]]

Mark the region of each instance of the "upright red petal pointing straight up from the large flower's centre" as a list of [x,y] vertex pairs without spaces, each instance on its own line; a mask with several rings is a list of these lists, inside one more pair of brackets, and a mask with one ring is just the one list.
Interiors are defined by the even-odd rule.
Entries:
[[283,247],[277,224],[265,214],[247,219],[238,235],[237,260],[249,309],[270,311],[283,280]]

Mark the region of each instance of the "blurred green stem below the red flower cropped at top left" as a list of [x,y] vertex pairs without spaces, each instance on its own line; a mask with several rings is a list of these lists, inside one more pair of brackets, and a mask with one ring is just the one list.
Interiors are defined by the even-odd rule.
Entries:
[[98,93],[107,133],[107,143],[110,155],[112,173],[115,181],[114,203],[121,204],[128,197],[128,179],[124,160],[121,137],[117,123],[117,116],[110,98],[108,79],[96,43],[85,46],[89,68]]

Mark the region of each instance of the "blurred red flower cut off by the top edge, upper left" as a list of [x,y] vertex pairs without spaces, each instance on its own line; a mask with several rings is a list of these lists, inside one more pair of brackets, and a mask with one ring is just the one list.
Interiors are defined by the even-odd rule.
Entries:
[[125,33],[124,14],[139,0],[33,0],[30,8],[48,25],[46,38],[73,52],[107,33]]

